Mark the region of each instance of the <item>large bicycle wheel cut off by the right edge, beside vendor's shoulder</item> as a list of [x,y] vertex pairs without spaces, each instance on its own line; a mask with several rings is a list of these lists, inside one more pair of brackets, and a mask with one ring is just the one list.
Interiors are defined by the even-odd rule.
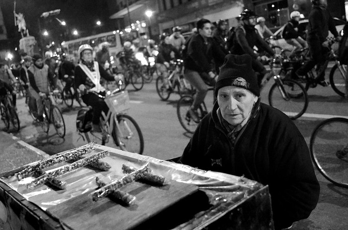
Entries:
[[313,163],[332,183],[348,188],[348,119],[321,122],[310,139]]

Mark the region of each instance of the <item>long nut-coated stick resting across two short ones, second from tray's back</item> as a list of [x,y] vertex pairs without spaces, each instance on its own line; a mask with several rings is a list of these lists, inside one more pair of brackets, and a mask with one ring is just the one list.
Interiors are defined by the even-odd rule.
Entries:
[[56,169],[56,170],[54,170],[52,172],[45,173],[44,175],[39,176],[38,178],[33,180],[31,183],[27,184],[27,188],[28,189],[35,188],[39,184],[45,183],[48,180],[50,180],[52,178],[55,178],[55,177],[58,177],[58,176],[61,176],[61,175],[65,174],[65,173],[67,173],[67,172],[79,169],[79,168],[89,164],[90,162],[95,162],[98,159],[107,156],[108,154],[109,154],[108,151],[102,151],[100,153],[96,153],[96,154],[93,154],[93,155],[88,156],[86,158],[77,160],[77,161],[75,161],[72,164],[66,165],[66,166],[64,166],[62,168],[58,168],[58,169]]

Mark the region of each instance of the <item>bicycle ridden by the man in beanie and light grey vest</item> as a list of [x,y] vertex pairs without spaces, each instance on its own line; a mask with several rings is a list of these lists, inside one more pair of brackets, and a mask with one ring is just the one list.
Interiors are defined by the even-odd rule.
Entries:
[[[40,96],[43,104],[43,121],[39,121],[42,130],[45,133],[48,133],[50,130],[50,124],[53,123],[53,126],[59,137],[64,138],[66,128],[65,121],[60,109],[55,105],[55,101],[53,98],[53,93],[50,92],[46,94],[46,96]],[[30,111],[31,116],[34,120],[38,120],[34,115],[33,111]]]

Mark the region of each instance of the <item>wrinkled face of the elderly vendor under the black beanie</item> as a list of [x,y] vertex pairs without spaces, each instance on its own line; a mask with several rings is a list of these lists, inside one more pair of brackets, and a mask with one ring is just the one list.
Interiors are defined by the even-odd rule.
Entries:
[[236,86],[220,88],[217,98],[222,117],[233,126],[245,125],[258,101],[249,90]]

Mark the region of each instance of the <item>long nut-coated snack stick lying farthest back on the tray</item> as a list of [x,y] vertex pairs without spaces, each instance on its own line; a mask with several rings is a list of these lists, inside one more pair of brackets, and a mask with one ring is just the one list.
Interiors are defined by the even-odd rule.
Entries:
[[39,162],[37,162],[37,164],[27,166],[26,168],[16,173],[15,175],[18,180],[21,180],[23,178],[32,176],[35,173],[35,171],[39,169],[44,169],[67,160],[78,158],[79,156],[90,153],[95,149],[96,148],[92,147],[91,144],[88,144],[87,146],[84,146],[84,147],[79,147],[79,148],[75,148],[73,150],[69,150],[63,153],[55,154],[52,157],[47,157],[45,159],[40,160]]

